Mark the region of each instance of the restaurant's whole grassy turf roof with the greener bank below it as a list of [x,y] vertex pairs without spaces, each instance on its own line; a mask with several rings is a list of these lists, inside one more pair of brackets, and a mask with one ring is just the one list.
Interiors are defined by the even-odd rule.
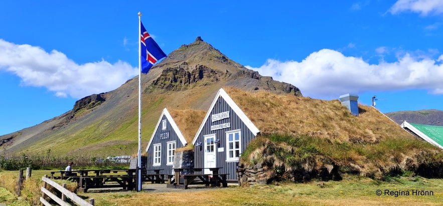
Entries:
[[359,105],[360,114],[354,116],[339,100],[225,90],[264,137],[250,143],[242,155],[245,164],[263,161],[289,171],[335,164],[343,172],[373,178],[383,178],[396,166],[414,171],[419,164],[441,164],[436,159],[441,151],[373,107]]

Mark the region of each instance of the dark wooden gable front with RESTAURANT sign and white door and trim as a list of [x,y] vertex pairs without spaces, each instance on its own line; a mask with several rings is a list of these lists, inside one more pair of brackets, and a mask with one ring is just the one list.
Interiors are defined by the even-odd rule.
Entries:
[[228,180],[237,180],[239,157],[258,133],[258,128],[221,88],[192,141],[194,167],[221,167],[219,173],[229,173]]

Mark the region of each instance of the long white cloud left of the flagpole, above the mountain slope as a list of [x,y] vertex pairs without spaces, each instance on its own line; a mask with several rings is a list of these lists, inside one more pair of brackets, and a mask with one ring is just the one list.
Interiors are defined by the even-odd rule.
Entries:
[[117,88],[137,75],[137,68],[127,62],[105,60],[77,64],[64,53],[46,52],[28,44],[14,44],[0,39],[0,69],[15,73],[22,84],[44,86],[56,96],[81,98]]

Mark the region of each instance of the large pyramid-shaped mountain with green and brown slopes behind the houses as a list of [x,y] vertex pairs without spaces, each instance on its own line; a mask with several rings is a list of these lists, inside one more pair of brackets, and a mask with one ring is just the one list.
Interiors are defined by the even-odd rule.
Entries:
[[[217,90],[291,93],[289,83],[261,76],[197,37],[142,74],[142,142],[151,137],[163,108],[207,110]],[[121,155],[138,145],[138,76],[115,90],[86,96],[73,109],[35,126],[0,136],[0,154]]]

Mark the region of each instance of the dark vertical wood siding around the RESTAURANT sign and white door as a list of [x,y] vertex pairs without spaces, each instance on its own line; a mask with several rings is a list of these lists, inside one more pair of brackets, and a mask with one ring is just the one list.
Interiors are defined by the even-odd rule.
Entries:
[[[212,122],[211,115],[216,113],[221,113],[224,111],[229,111],[229,118],[221,119]],[[219,170],[219,173],[229,173],[227,179],[238,179],[237,177],[237,163],[238,162],[226,162],[226,132],[236,129],[241,129],[241,146],[240,153],[244,152],[248,143],[255,137],[254,134],[247,128],[244,122],[234,113],[234,110],[226,103],[226,101],[220,96],[217,100],[214,108],[211,111],[211,115],[204,122],[202,131],[197,137],[197,142],[202,142],[201,146],[194,146],[194,166],[196,168],[201,168],[205,166],[205,157],[204,157],[204,135],[207,134],[216,134],[216,139],[220,139],[219,143],[216,143],[216,165],[217,167],[223,167]],[[231,123],[229,128],[217,129],[211,131],[211,125],[222,124],[222,123]],[[224,147],[223,151],[218,151],[219,147]]]

